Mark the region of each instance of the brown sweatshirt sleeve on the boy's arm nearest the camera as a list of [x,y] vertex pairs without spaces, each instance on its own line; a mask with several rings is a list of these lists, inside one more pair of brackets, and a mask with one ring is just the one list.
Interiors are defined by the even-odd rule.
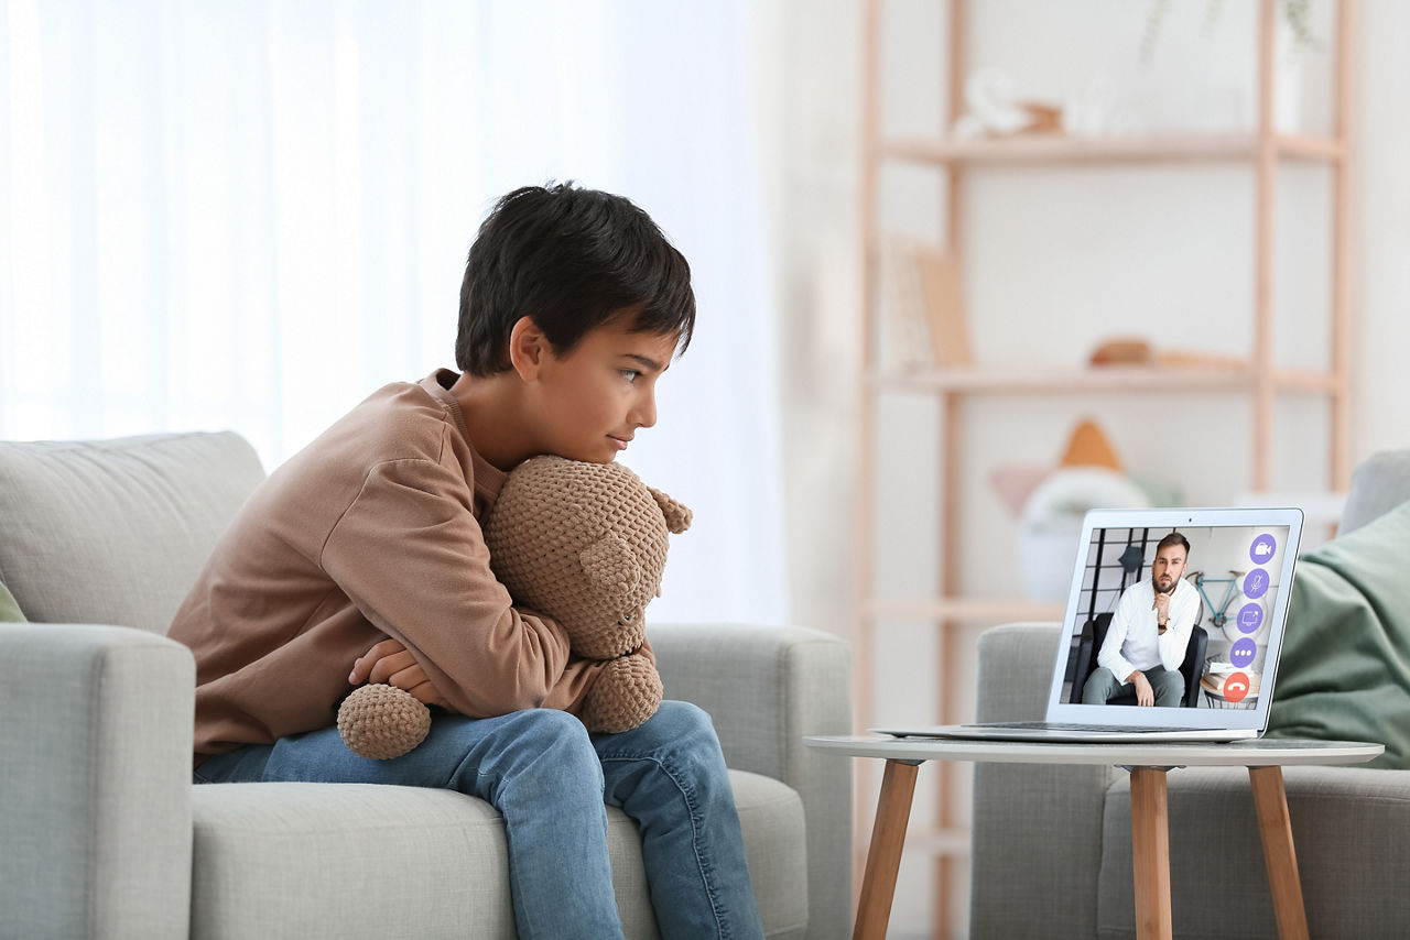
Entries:
[[567,633],[513,607],[458,476],[426,458],[372,466],[329,534],[321,567],[457,712],[541,706],[565,681]]

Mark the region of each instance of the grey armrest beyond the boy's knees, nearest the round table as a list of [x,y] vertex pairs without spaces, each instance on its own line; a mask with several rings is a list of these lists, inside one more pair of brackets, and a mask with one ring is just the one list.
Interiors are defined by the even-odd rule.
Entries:
[[666,624],[650,631],[666,698],[715,720],[729,767],[783,781],[808,826],[809,936],[852,920],[852,765],[804,746],[852,729],[850,650],[804,627]]

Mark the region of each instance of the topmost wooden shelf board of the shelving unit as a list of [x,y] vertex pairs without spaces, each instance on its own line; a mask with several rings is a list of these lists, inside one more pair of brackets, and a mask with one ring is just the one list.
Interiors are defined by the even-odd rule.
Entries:
[[[1273,134],[1270,141],[1276,155],[1285,159],[1331,163],[1347,156],[1345,145],[1331,138]],[[877,151],[891,159],[940,165],[1225,163],[1256,158],[1259,137],[1253,132],[1129,137],[1035,134],[971,140],[890,140],[877,144]]]

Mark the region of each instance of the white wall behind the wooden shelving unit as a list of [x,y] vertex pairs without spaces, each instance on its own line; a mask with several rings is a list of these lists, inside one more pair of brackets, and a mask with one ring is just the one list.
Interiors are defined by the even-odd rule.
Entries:
[[[1252,3],[1175,3],[1149,65],[1141,61],[1148,14],[1159,4],[1122,0],[984,0],[971,3],[971,65],[1008,70],[1019,90],[1063,99],[1098,69],[1131,103],[1132,124],[1252,121]],[[1206,23],[1210,8],[1218,16]],[[897,134],[942,125],[945,4],[893,0],[884,123]],[[1331,38],[1331,4],[1313,0],[1313,32]],[[860,114],[859,0],[778,0],[759,13],[761,97],[771,183],[773,244],[783,314],[781,382],[795,619],[849,634],[849,555],[856,444],[857,183]],[[1410,447],[1410,145],[1402,103],[1410,65],[1396,37],[1410,31],[1410,6],[1361,4],[1354,76],[1355,331],[1352,464]],[[1304,51],[1300,120],[1327,118],[1325,48]],[[1297,86],[1285,79],[1280,89]],[[891,169],[883,179],[887,228],[936,234],[940,199],[933,175]],[[1327,361],[1327,172],[1283,171],[1277,203],[1275,355],[1280,365]],[[1252,173],[1239,168],[1042,169],[973,173],[966,206],[969,326],[976,358],[994,365],[1077,366],[1104,338],[1136,334],[1158,347],[1248,354],[1252,344]],[[1273,438],[1273,485],[1320,489],[1328,482],[1325,404],[1282,399]],[[995,397],[966,409],[962,454],[963,589],[1014,595],[1015,523],[987,483],[1004,464],[1055,462],[1073,423],[1094,416],[1128,468],[1179,483],[1191,503],[1232,499],[1251,481],[1249,406],[1238,397],[1180,389],[1169,399]],[[933,583],[935,431],[925,397],[887,396],[881,409],[877,512],[878,578],[887,593],[925,593]],[[990,624],[971,624],[966,650]],[[929,720],[938,695],[969,703],[973,689],[936,689],[936,641],[926,624],[888,624],[877,641],[877,720]],[[962,669],[963,672],[963,669]],[[967,771],[957,789],[967,789]],[[932,816],[933,768],[921,775],[912,826]],[[869,775],[869,781],[874,777]],[[870,785],[874,785],[870,784]],[[870,795],[863,799],[870,806]],[[869,810],[870,812],[870,810]],[[963,870],[959,878],[963,878]],[[931,927],[929,862],[908,853],[893,913],[893,936]],[[952,915],[962,933],[966,888]]]

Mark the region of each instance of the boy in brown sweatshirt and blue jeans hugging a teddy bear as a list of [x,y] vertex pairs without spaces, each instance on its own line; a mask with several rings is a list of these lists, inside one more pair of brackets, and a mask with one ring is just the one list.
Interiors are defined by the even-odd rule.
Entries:
[[[663,702],[632,731],[589,736],[570,712],[601,665],[512,606],[478,521],[520,461],[609,462],[656,424],[656,382],[694,323],[685,259],[626,199],[561,185],[499,200],[465,265],[461,375],[374,393],[271,474],[178,612],[196,781],[485,799],[527,939],[622,936],[606,802],[640,824],[663,936],[763,936],[709,717]],[[331,726],[364,681],[448,713],[405,757],[361,758]]]

